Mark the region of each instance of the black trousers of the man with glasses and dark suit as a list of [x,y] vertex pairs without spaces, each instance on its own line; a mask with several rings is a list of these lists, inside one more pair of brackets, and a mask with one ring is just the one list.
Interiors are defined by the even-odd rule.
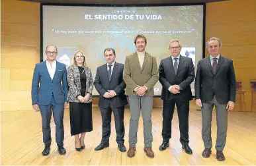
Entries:
[[169,139],[171,138],[171,121],[173,119],[175,104],[177,106],[179,117],[179,140],[182,145],[187,145],[189,144],[189,101],[181,102],[176,101],[176,99],[163,101],[163,142],[169,142]]

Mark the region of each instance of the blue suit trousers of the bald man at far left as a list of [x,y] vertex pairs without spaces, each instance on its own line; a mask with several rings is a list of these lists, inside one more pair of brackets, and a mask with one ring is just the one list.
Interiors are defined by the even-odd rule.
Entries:
[[49,105],[39,105],[40,112],[42,115],[42,132],[43,132],[43,142],[45,145],[52,143],[51,138],[51,128],[50,122],[52,117],[52,112],[54,114],[54,123],[56,124],[56,143],[63,145],[64,142],[64,103],[56,103],[54,96],[52,95],[52,100]]

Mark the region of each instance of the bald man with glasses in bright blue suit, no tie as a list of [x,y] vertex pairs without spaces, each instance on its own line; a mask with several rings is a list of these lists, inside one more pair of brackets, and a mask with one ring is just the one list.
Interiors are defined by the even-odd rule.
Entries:
[[36,64],[32,79],[32,107],[41,112],[44,151],[50,153],[52,143],[50,121],[52,112],[56,124],[56,143],[60,155],[65,155],[64,148],[64,107],[67,106],[67,70],[63,63],[56,61],[57,47],[46,47],[46,61]]

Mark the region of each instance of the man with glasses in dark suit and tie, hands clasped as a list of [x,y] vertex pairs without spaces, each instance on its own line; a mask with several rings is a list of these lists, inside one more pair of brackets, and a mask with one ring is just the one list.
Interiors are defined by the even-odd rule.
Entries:
[[159,65],[159,82],[163,89],[163,143],[159,150],[169,147],[171,138],[171,121],[175,104],[179,117],[180,142],[186,153],[192,154],[189,147],[189,101],[192,99],[191,83],[194,80],[192,59],[180,55],[179,40],[171,40],[169,45],[171,56],[161,60]]

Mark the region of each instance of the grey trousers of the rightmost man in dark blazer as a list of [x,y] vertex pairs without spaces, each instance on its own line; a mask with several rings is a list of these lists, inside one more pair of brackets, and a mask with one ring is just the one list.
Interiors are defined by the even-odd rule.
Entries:
[[217,140],[216,150],[223,151],[226,145],[227,130],[228,130],[228,110],[226,104],[218,103],[214,96],[208,103],[202,103],[202,140],[204,141],[204,148],[212,148],[212,109],[216,108],[217,121]]

